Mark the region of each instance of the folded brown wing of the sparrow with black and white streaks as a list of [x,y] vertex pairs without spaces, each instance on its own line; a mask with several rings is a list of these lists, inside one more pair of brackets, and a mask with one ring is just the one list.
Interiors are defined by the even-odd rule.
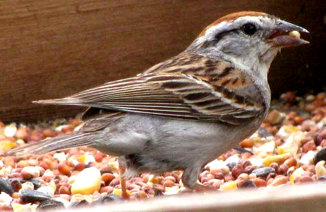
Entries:
[[[242,124],[264,105],[242,93],[250,77],[227,63],[201,58],[180,65],[160,64],[135,77],[108,82],[63,99],[36,103],[98,107],[178,119]],[[182,64],[182,63],[181,63]],[[250,88],[255,90],[255,88]],[[255,91],[257,92],[257,91]]]

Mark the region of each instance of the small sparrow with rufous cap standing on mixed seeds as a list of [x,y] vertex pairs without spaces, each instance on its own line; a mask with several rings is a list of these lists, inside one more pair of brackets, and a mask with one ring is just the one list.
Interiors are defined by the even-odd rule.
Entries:
[[[125,179],[181,170],[189,189],[204,166],[251,136],[270,106],[267,73],[284,47],[308,44],[308,30],[263,12],[243,11],[208,25],[180,54],[130,78],[39,104],[88,107],[76,132],[14,148],[37,155],[89,146],[119,158]],[[120,165],[121,164],[121,165]]]

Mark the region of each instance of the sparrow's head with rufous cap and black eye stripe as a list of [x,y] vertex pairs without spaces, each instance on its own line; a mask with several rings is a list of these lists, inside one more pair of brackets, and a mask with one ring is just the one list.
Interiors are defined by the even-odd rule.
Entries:
[[309,43],[300,39],[299,32],[308,30],[266,13],[238,12],[207,26],[187,50],[228,60],[242,69],[258,65],[268,71],[281,48]]

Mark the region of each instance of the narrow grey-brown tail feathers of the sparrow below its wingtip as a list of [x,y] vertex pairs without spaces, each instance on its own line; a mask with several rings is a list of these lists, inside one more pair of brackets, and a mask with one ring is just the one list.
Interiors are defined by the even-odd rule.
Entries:
[[9,150],[0,156],[9,155],[37,155],[46,152],[70,149],[84,145],[92,145],[96,138],[99,138],[100,132],[75,132],[68,135],[62,135],[55,138],[48,138],[36,143],[27,144],[21,147]]

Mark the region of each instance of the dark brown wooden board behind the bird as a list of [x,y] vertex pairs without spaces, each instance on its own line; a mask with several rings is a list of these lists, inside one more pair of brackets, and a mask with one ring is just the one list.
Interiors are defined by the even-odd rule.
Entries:
[[0,120],[74,116],[83,108],[40,106],[103,82],[133,76],[184,50],[218,17],[255,10],[311,31],[311,45],[274,61],[274,97],[324,86],[324,1],[0,1]]

